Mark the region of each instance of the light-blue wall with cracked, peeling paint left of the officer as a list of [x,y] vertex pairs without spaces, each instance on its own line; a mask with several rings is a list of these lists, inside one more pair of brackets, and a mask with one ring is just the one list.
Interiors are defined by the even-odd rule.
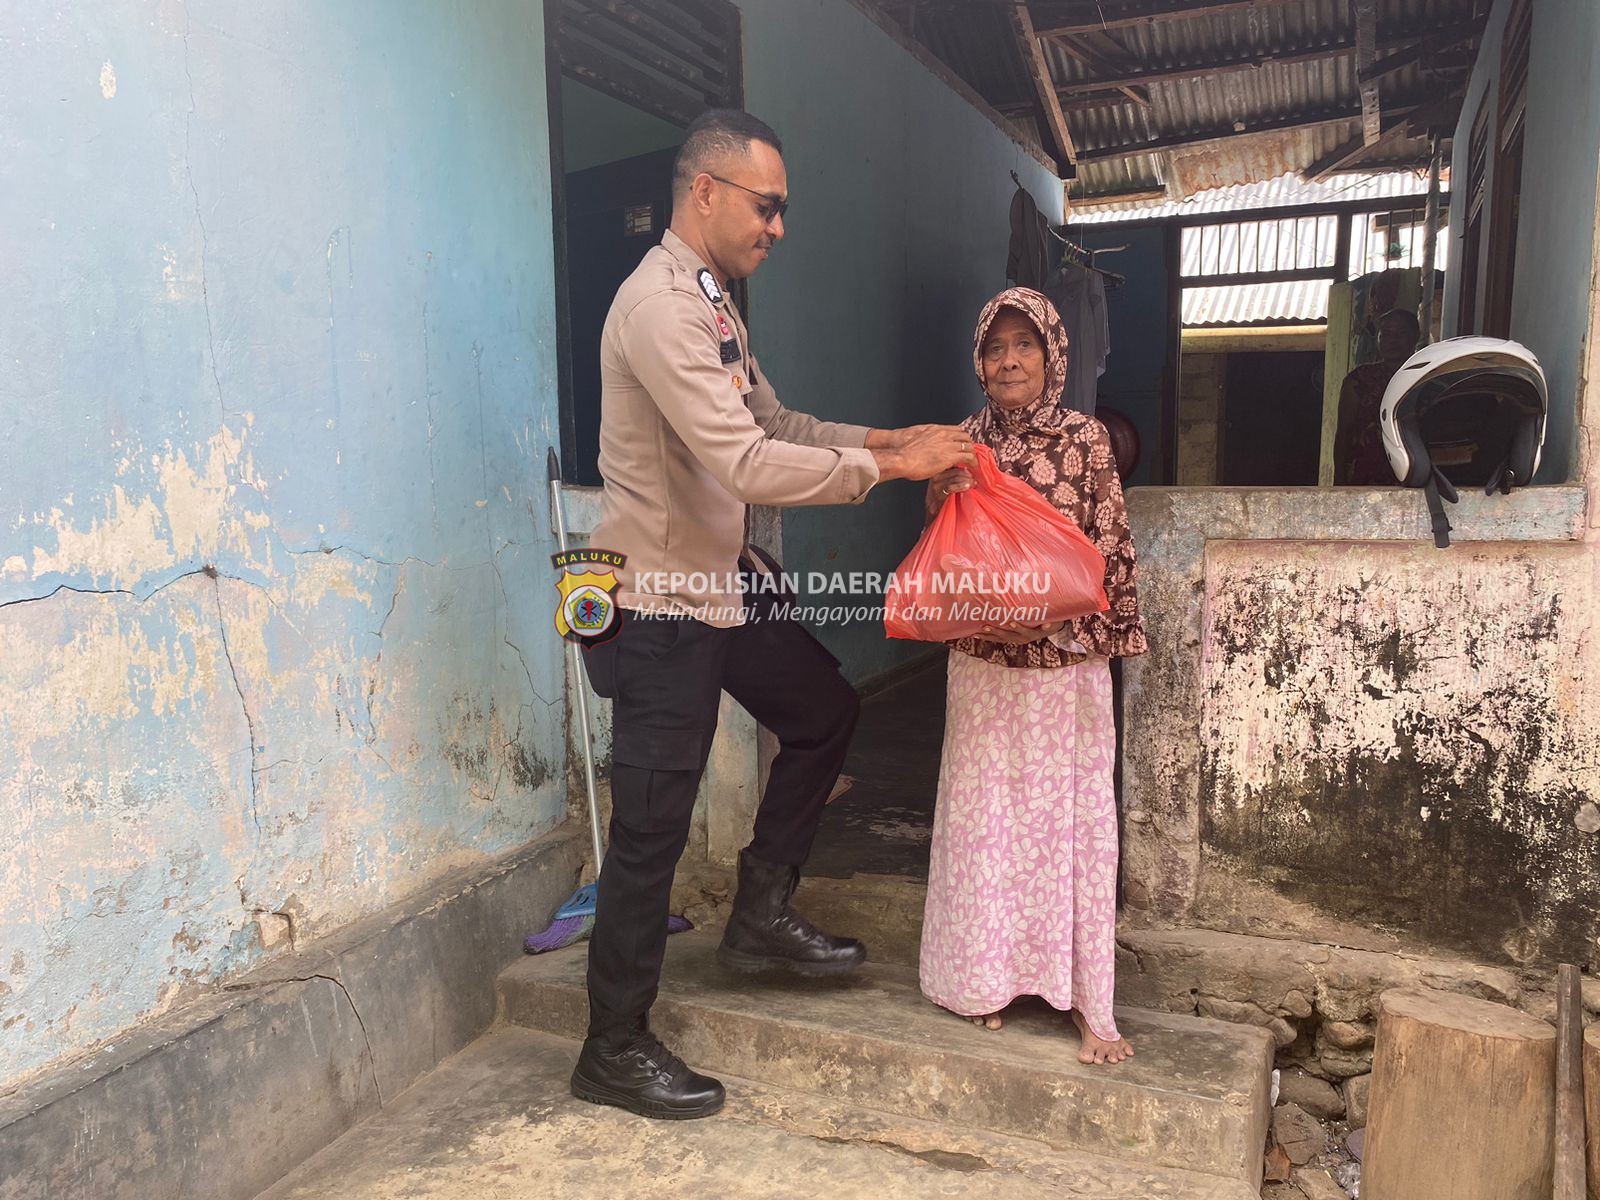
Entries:
[[558,819],[542,54],[0,19],[0,1086]]

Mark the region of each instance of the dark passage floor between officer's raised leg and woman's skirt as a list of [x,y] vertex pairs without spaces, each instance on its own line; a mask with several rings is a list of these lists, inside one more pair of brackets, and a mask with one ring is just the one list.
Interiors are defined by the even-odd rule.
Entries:
[[944,658],[867,698],[845,760],[854,784],[827,806],[805,874],[928,878],[944,746]]

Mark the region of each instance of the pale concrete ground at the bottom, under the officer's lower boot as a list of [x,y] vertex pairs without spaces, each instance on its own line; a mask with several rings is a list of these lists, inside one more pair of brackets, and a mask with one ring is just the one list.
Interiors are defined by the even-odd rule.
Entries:
[[573,1099],[578,1043],[501,1026],[256,1200],[1251,1200],[1134,1166],[728,1077],[728,1107],[650,1122]]

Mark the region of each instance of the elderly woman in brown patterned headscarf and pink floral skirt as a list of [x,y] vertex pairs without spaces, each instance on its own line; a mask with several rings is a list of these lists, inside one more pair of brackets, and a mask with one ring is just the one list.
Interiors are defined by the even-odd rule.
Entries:
[[[1067,334],[1045,296],[989,301],[973,365],[989,403],[963,429],[1099,547],[1110,608],[950,643],[922,990],[987,1029],[1043,997],[1070,1011],[1083,1062],[1120,1062],[1109,659],[1146,650],[1122,485],[1104,426],[1061,406]],[[933,480],[930,518],[971,483],[958,469]]]

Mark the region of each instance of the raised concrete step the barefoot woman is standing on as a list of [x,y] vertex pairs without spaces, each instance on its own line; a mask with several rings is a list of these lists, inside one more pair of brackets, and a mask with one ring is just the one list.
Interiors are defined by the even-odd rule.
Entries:
[[[752,979],[718,968],[715,946],[701,931],[667,942],[651,1014],[694,1067],[1058,1150],[1259,1182],[1272,1067],[1264,1030],[1118,1010],[1138,1054],[1094,1067],[1077,1061],[1070,1021],[1043,1005],[1014,1005],[990,1034],[925,1000],[909,966]],[[499,979],[501,1014],[581,1037],[584,965],[582,946],[515,963]]]

